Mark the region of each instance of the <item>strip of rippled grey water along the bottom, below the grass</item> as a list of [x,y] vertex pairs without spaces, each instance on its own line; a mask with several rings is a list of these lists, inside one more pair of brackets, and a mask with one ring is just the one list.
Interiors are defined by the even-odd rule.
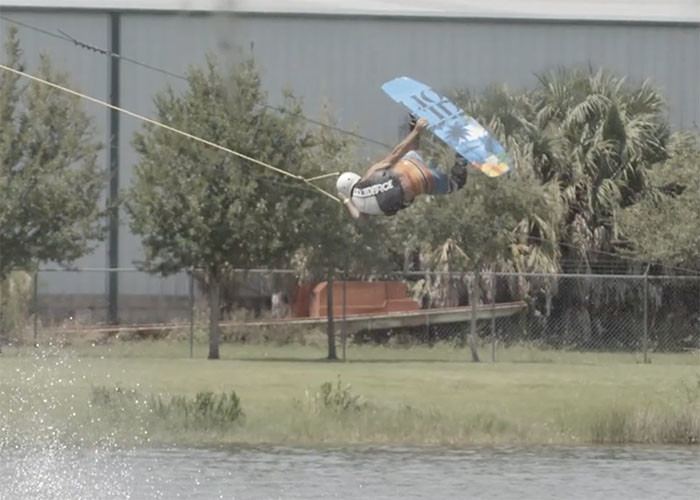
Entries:
[[700,449],[4,449],[0,478],[3,500],[698,500]]

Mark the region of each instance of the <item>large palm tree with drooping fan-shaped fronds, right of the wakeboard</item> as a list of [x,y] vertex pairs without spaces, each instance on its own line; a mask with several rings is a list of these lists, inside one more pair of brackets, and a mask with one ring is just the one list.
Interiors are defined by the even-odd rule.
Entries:
[[522,141],[536,145],[543,181],[555,180],[567,204],[565,258],[593,269],[596,251],[613,251],[614,214],[635,203],[651,167],[667,157],[669,125],[661,93],[605,71],[558,71],[540,78]]

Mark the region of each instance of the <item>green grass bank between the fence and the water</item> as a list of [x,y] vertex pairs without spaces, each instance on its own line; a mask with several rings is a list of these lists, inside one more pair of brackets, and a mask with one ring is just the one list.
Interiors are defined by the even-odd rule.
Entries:
[[195,347],[194,359],[171,342],[6,351],[0,444],[37,435],[145,446],[700,441],[696,355],[641,364],[530,350],[476,364],[447,346],[353,347],[351,362],[331,363],[320,346],[226,345],[218,361]]

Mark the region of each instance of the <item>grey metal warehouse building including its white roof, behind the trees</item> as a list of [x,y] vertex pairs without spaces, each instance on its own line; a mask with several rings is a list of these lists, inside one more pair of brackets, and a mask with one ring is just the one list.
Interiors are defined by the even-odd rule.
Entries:
[[[340,126],[385,143],[398,139],[405,116],[380,86],[398,75],[478,91],[532,85],[556,66],[605,67],[661,88],[675,127],[700,124],[700,0],[2,0],[0,14],[3,37],[19,28],[30,72],[46,52],[77,89],[147,116],[154,94],[166,84],[182,88],[188,66],[208,52],[227,63],[252,50],[273,104],[284,87],[304,99],[311,118],[329,101]],[[86,107],[111,145],[101,161],[118,174],[114,193],[130,183],[141,124]],[[121,219],[76,266],[134,266],[140,243]],[[149,279],[45,273],[41,287],[98,295],[113,312],[118,296],[162,294],[164,286],[187,293],[181,277],[156,289]]]

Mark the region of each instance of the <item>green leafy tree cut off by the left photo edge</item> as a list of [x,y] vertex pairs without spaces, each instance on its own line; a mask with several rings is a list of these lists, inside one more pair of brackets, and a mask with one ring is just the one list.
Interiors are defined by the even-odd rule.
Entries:
[[[20,55],[10,29],[5,64],[22,70]],[[45,55],[37,74],[69,86]],[[0,281],[41,261],[73,261],[104,236],[94,131],[79,98],[0,73]]]

